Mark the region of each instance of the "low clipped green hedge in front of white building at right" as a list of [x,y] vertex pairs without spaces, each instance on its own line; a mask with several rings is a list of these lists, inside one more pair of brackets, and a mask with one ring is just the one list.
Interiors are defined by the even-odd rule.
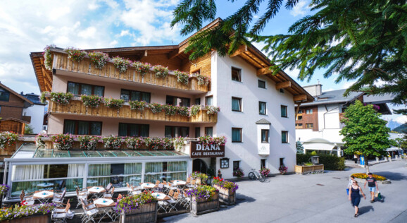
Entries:
[[[345,158],[337,157],[335,155],[320,155],[320,164],[324,164],[326,170],[344,170]],[[310,162],[311,155],[309,154],[297,154],[296,164],[304,164]]]

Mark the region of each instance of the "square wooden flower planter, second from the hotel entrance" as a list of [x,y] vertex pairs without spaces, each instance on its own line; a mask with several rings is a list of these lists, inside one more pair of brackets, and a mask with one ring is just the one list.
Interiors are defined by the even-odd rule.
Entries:
[[191,212],[195,215],[219,210],[218,190],[213,186],[197,186],[189,189],[187,195],[191,197]]

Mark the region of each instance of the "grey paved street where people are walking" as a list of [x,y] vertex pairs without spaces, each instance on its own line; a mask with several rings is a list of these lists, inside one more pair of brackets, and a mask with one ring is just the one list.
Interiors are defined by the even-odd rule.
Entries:
[[370,203],[370,195],[361,200],[358,218],[353,217],[345,188],[349,176],[364,169],[350,168],[325,174],[279,175],[265,183],[241,181],[237,205],[198,217],[190,213],[165,217],[159,222],[406,222],[406,163],[403,160],[370,167],[372,173],[386,176],[392,183],[379,185],[383,203]]

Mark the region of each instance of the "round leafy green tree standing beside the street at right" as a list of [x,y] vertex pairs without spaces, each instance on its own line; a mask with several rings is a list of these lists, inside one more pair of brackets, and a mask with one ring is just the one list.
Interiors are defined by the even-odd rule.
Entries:
[[[382,114],[377,113],[371,104],[364,106],[356,100],[344,114],[342,122],[345,124],[340,131],[344,135],[344,152],[349,155],[359,154],[367,158],[369,155],[386,155],[386,149],[391,146],[389,140],[390,128],[386,127],[387,121],[380,119]],[[366,173],[369,172],[368,159],[365,159]]]

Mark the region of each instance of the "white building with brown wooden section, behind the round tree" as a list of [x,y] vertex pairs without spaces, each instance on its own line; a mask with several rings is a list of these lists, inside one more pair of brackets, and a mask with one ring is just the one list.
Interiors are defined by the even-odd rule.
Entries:
[[344,110],[355,100],[360,100],[366,104],[376,104],[380,107],[382,114],[392,114],[387,102],[392,97],[367,96],[363,92],[351,92],[344,97],[346,89],[323,92],[322,85],[309,85],[303,87],[313,97],[314,102],[302,103],[298,109],[296,117],[296,140],[303,143],[304,152],[316,150],[323,153],[334,153],[343,155],[344,142],[339,131],[344,127],[340,122],[343,118]]

